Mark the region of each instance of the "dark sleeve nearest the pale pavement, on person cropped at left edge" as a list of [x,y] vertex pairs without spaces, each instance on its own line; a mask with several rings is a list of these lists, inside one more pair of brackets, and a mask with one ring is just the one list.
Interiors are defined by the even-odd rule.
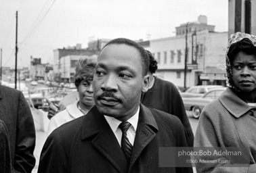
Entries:
[[14,168],[31,172],[35,166],[35,124],[24,95],[19,92]]

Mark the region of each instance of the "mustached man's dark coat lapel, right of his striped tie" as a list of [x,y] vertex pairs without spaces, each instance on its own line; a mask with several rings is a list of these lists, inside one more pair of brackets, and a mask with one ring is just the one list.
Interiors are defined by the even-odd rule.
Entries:
[[140,104],[140,115],[139,121],[137,124],[137,130],[135,135],[135,141],[133,144],[133,150],[131,152],[131,161],[129,169],[132,168],[133,164],[140,156],[140,153],[144,150],[144,148],[154,139],[156,133],[158,131],[158,126],[156,124],[156,120],[150,110],[144,105]]

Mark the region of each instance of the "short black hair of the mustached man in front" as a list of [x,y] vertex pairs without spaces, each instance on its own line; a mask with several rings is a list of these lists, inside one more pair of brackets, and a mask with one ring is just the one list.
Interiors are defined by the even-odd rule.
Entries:
[[[128,45],[131,47],[134,47],[135,49],[137,49],[137,51],[140,52],[140,56],[142,58],[142,75],[146,76],[146,74],[148,73],[148,66],[149,66],[149,57],[148,57],[148,53],[147,51],[138,43],[136,43],[135,41],[131,41],[129,39],[125,39],[125,38],[118,38],[118,39],[114,39],[112,41],[109,41],[103,48],[102,50],[107,47],[108,45]],[[101,51],[102,51],[101,50]],[[99,53],[100,55],[100,53]]]

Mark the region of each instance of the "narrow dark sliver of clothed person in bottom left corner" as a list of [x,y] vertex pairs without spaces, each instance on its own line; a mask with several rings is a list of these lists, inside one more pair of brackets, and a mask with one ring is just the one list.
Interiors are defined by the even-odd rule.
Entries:
[[9,134],[5,123],[0,120],[0,172],[12,172],[11,151],[9,149]]

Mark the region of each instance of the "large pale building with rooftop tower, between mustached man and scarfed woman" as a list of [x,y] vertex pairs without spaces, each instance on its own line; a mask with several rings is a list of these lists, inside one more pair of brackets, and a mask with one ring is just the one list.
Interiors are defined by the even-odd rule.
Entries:
[[223,67],[226,63],[228,32],[214,32],[214,28],[207,24],[205,16],[199,16],[198,22],[176,27],[176,36],[144,41],[140,45],[148,49],[158,61],[156,76],[184,87],[187,41],[186,87],[196,84],[226,85]]

